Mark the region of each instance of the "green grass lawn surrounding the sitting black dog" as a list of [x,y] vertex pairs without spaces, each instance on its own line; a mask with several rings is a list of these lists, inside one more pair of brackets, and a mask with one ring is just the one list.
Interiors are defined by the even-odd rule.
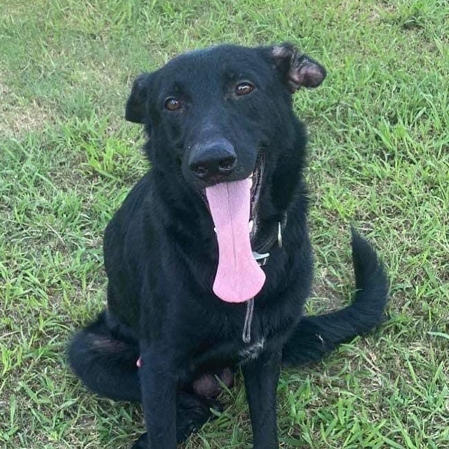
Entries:
[[[105,302],[102,232],[147,169],[130,81],[189,48],[293,41],[328,67],[297,94],[316,282],[351,290],[349,224],[391,278],[389,319],[283,373],[282,448],[449,448],[449,10],[436,0],[4,0],[0,5],[0,443],[126,448],[142,413],[89,394],[65,341]],[[241,382],[188,448],[250,448]]]

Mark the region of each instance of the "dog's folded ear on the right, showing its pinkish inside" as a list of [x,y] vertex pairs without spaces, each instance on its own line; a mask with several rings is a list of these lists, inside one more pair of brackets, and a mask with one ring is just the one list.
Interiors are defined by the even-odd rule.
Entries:
[[292,93],[301,86],[318,87],[326,78],[326,69],[309,56],[300,53],[291,43],[274,46],[272,57],[276,69]]

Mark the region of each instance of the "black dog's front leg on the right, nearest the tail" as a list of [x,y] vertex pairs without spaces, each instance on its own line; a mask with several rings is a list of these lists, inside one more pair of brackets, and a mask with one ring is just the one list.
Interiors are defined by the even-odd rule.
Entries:
[[279,448],[276,423],[276,389],[281,352],[266,352],[243,365],[246,396],[253,427],[254,449]]

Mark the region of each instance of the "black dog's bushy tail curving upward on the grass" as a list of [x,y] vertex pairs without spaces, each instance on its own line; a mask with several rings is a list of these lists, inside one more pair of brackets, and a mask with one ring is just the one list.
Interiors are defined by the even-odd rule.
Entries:
[[319,361],[340,343],[367,333],[384,319],[389,283],[375,250],[352,234],[352,262],[356,277],[354,301],[344,309],[318,316],[304,316],[283,347],[282,363],[297,366]]

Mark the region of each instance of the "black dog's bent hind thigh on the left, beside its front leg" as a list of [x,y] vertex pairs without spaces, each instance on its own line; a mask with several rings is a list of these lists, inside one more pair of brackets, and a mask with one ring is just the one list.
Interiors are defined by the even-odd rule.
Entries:
[[140,401],[138,342],[112,328],[103,311],[69,343],[69,363],[83,384],[116,401]]

